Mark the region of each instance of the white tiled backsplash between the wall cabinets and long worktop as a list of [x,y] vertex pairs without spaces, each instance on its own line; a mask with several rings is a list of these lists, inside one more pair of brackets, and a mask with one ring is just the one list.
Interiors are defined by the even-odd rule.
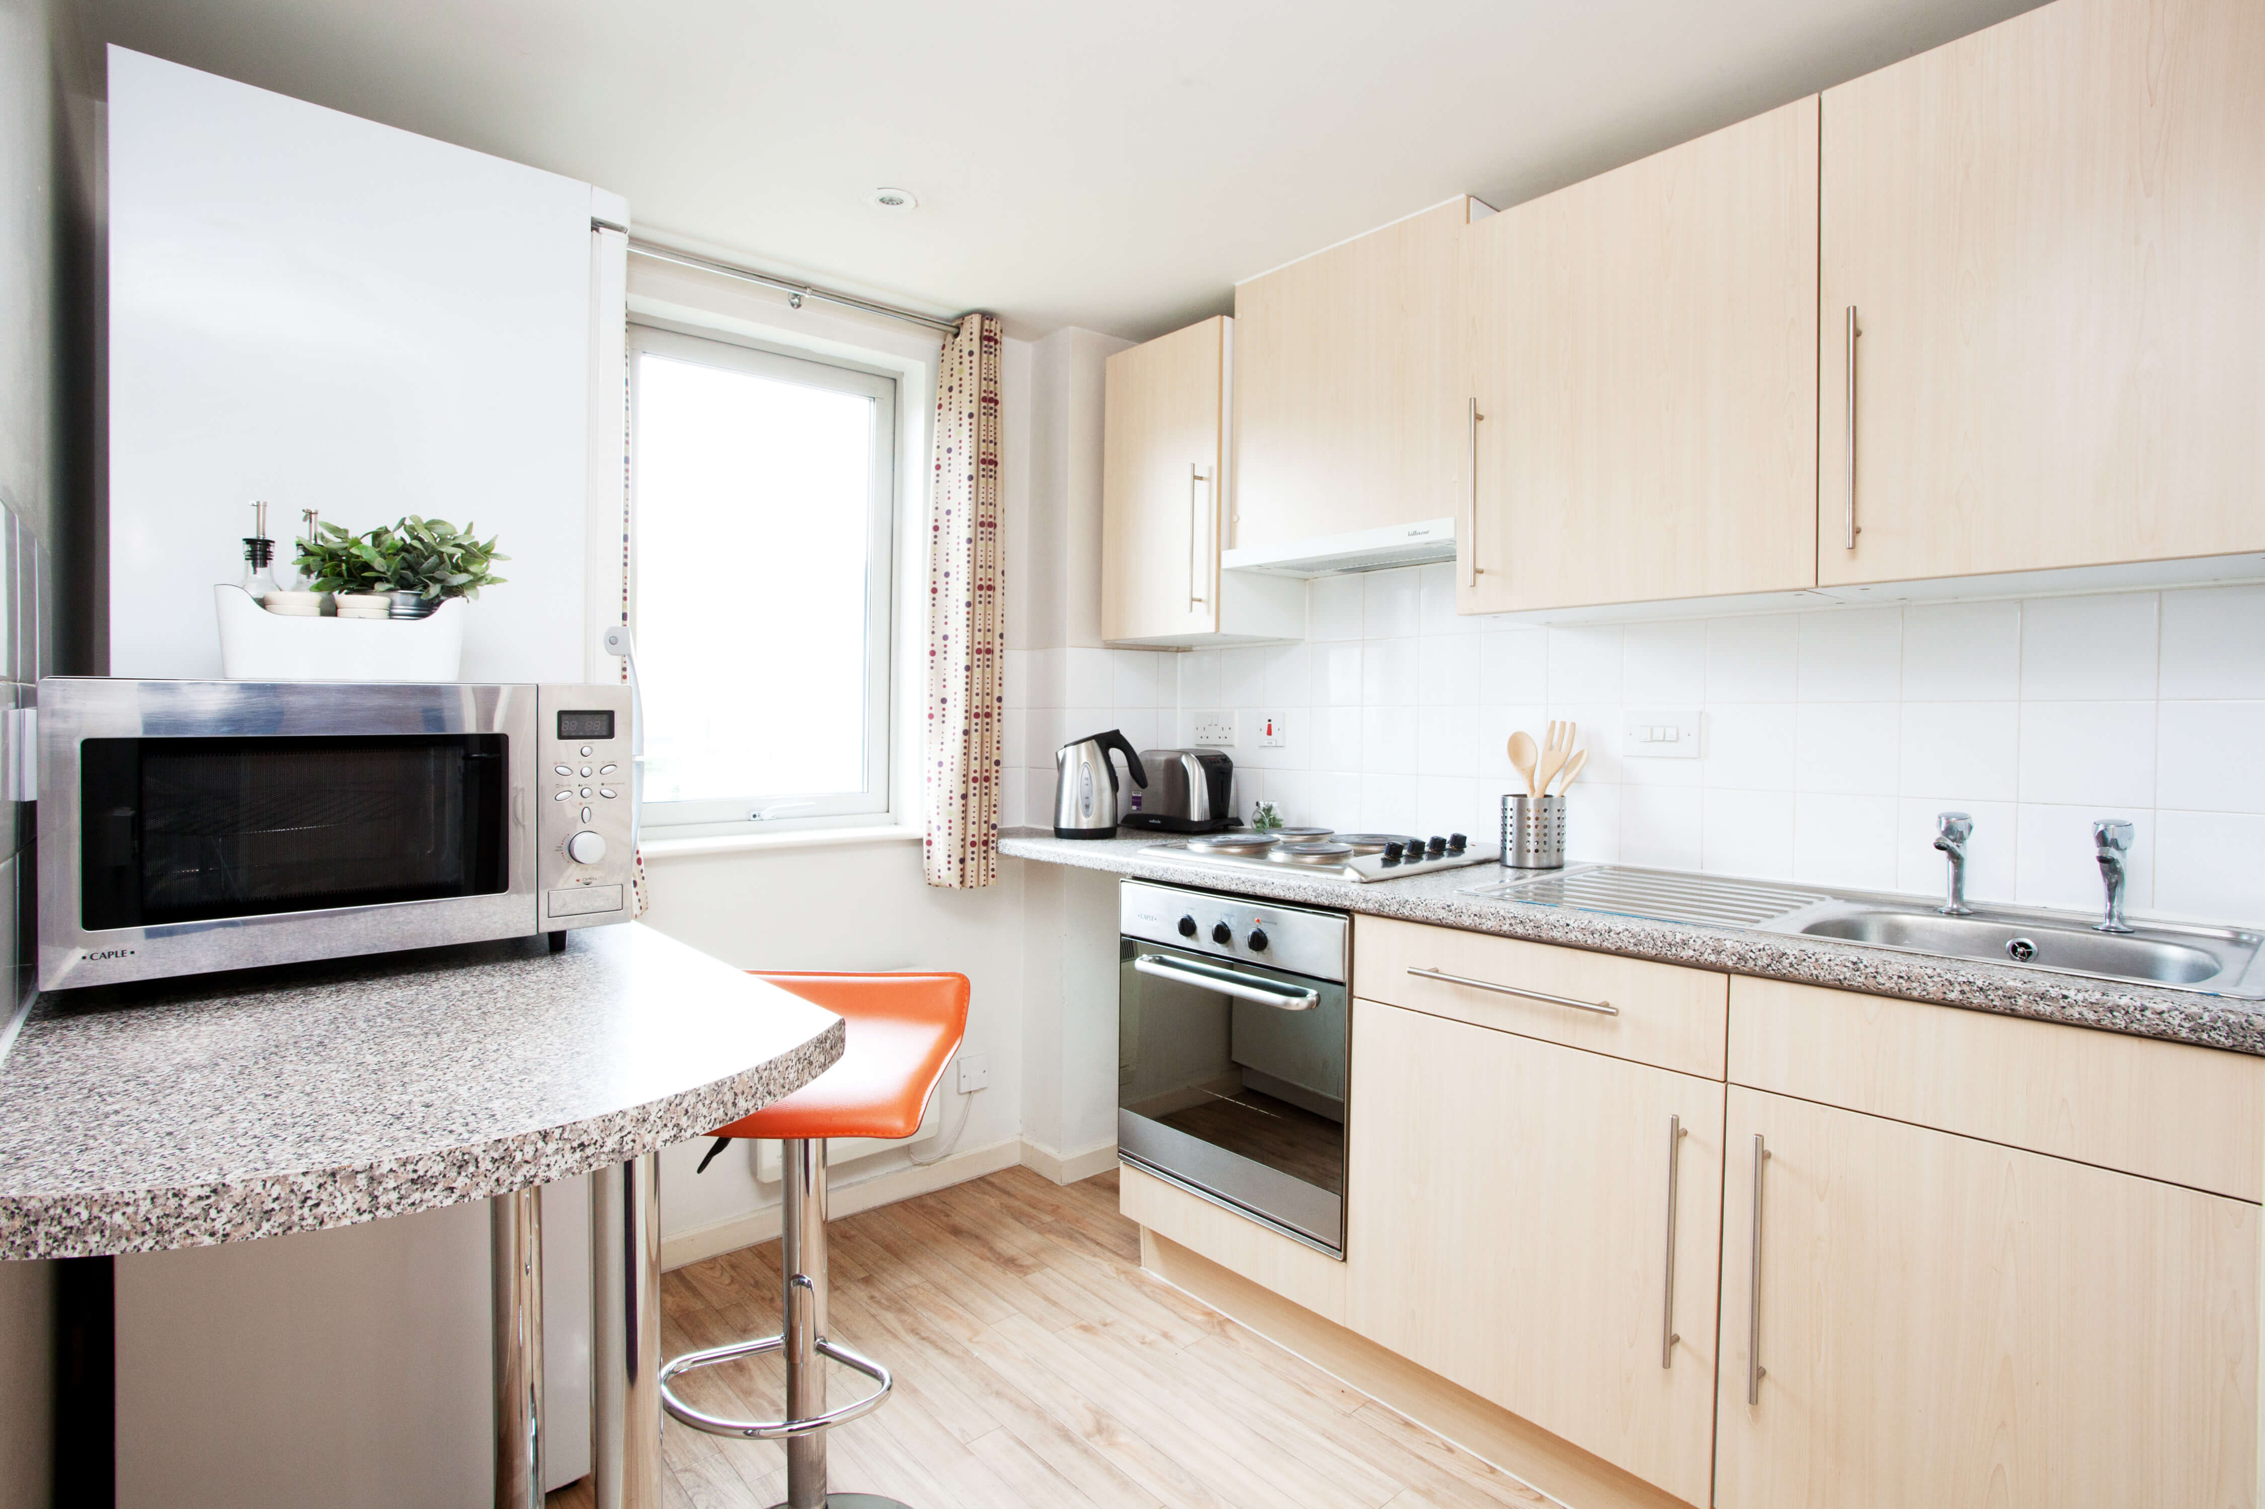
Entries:
[[[1574,718],[1572,859],[1928,893],[1964,809],[1968,895],[2093,909],[2116,816],[2134,911],[2265,922],[2265,587],[1536,628],[1456,616],[1452,566],[1418,566],[1316,580],[1307,632],[1010,655],[1008,818],[1046,820],[1062,739],[1187,743],[1223,709],[1239,811],[1493,838],[1508,734]],[[1629,755],[1626,711],[1683,709],[1701,759]],[[1282,748],[1250,745],[1262,714]]]

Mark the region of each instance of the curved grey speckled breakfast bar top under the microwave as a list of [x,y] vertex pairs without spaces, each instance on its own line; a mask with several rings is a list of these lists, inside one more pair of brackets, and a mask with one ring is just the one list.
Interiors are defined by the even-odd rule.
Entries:
[[45,995],[0,1063],[0,1258],[274,1237],[698,1137],[843,1022],[643,924]]

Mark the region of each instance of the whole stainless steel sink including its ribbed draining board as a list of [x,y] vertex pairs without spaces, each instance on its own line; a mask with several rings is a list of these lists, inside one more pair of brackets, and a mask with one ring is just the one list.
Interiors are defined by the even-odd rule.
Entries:
[[1918,897],[1792,888],[1633,866],[1570,868],[1472,893],[2265,999],[2265,938],[2231,927],[2136,922],[2129,933],[2102,933],[2091,927],[2091,918],[2016,906],[1975,906],[1971,915],[1946,918]]

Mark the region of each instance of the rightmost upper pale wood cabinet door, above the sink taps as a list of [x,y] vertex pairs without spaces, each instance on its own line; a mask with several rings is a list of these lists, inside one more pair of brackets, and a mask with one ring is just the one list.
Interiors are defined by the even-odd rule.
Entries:
[[1821,582],[2265,548],[2258,79],[2258,0],[2057,0],[1823,95]]

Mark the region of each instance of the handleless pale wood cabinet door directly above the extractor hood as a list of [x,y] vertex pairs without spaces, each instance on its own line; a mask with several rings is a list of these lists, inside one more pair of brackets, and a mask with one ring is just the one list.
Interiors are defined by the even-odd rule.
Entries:
[[1456,514],[1468,220],[1456,197],[1234,288],[1232,548]]

